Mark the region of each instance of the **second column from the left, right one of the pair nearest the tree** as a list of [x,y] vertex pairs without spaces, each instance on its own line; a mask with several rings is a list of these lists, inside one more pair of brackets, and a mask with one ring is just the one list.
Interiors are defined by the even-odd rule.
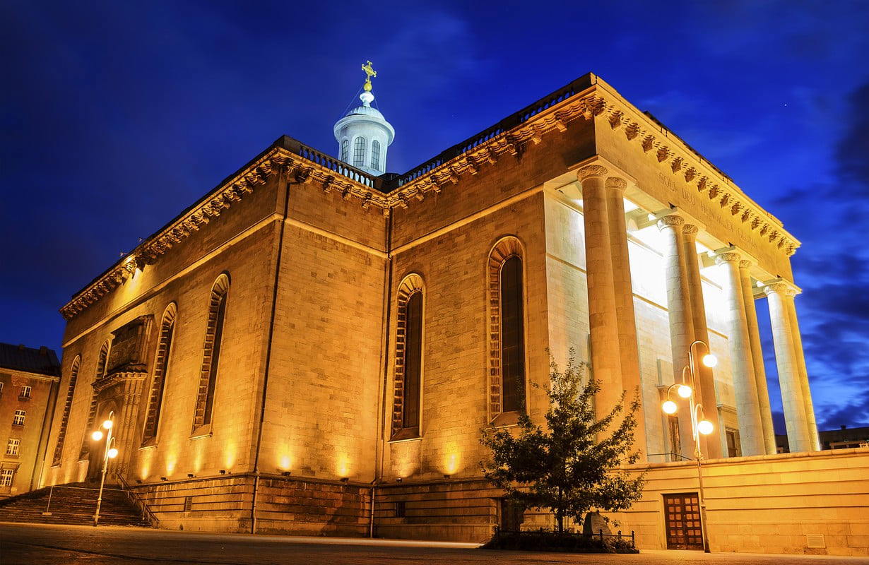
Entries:
[[[627,390],[626,402],[640,395],[640,352],[637,347],[637,326],[634,316],[634,289],[631,285],[631,265],[627,253],[627,224],[625,223],[625,189],[627,182],[617,176],[606,181],[607,216],[609,220],[609,246],[613,260],[613,289],[615,316],[619,329],[619,356],[621,386]],[[646,426],[642,405],[637,415],[634,444],[646,450]]]

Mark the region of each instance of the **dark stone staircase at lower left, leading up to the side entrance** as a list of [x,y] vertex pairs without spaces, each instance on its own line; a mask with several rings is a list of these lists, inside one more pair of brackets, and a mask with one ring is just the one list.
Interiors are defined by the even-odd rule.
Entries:
[[[70,482],[11,496],[0,500],[0,522],[92,525],[99,488],[99,483]],[[46,508],[50,514],[46,514]],[[99,525],[150,527],[126,492],[116,485],[103,489]]]

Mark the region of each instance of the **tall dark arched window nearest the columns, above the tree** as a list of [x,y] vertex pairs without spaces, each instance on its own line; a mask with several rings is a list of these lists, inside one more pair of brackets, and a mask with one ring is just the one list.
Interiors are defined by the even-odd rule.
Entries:
[[[489,254],[489,412],[525,411],[525,299],[522,248],[501,239]],[[512,420],[505,419],[503,423]]]

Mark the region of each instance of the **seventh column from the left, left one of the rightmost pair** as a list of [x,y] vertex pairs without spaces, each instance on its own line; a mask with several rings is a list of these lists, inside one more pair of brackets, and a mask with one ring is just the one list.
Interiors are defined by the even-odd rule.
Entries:
[[[794,340],[793,321],[787,303],[792,289],[785,283],[767,284],[764,287],[769,302],[769,318],[773,326],[775,364],[779,368],[781,403],[785,410],[787,442],[791,451],[811,451],[814,447],[806,419],[806,402],[799,376],[797,343]],[[793,295],[792,295],[793,296]]]

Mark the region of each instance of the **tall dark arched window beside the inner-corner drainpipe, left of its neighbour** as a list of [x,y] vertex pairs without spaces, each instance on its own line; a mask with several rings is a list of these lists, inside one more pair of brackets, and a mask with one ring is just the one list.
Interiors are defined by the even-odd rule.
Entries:
[[420,435],[422,297],[422,278],[419,275],[407,276],[398,287],[393,439]]

